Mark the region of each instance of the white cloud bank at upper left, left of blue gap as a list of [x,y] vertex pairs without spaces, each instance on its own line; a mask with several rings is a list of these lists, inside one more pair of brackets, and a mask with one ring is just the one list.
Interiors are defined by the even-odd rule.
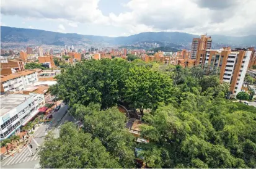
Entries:
[[98,3],[99,0],[2,0],[1,13],[82,23],[104,23],[107,17],[98,9]]

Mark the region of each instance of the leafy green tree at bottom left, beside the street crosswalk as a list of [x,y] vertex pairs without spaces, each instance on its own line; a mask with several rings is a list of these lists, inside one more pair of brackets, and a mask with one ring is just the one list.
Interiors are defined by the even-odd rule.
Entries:
[[60,137],[48,134],[40,149],[42,168],[120,168],[98,138],[78,131],[73,123],[61,126]]

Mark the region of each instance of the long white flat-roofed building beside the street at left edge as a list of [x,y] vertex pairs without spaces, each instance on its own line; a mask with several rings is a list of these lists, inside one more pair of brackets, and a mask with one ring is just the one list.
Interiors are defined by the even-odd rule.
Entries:
[[20,131],[45,104],[43,94],[6,94],[1,96],[1,140]]

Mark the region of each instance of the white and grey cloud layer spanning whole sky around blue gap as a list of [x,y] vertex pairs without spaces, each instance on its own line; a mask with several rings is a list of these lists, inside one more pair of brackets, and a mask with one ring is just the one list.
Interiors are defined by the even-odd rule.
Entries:
[[[2,0],[1,14],[77,23],[110,25],[126,35],[143,31],[183,31],[195,34],[255,34],[255,0],[130,0],[130,12],[103,15],[100,0]],[[109,2],[110,5],[111,1]],[[27,10],[30,9],[30,10]],[[63,26],[64,27],[64,26]],[[59,28],[58,30],[65,30]],[[97,33],[96,33],[97,34]],[[125,35],[125,34],[123,34]]]

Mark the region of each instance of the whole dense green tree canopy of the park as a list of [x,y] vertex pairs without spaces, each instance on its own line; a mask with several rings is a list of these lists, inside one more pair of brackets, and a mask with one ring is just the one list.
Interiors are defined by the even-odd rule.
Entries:
[[[48,149],[55,144],[69,146],[66,149],[77,150],[78,157],[77,152],[65,155],[67,150],[61,149],[65,153],[58,150],[61,157],[53,162],[56,152],[48,150],[41,153],[46,160],[40,160],[43,167],[133,168],[135,147],[141,149],[138,157],[151,168],[256,167],[256,109],[226,100],[229,85],[220,83],[214,72],[141,60],[102,59],[64,68],[56,78],[58,85],[50,88],[51,93],[68,102],[69,112],[84,127],[81,131],[73,129],[70,133],[74,139],[70,141],[64,138],[73,135],[64,136],[63,132],[60,138],[50,137],[45,143]],[[116,108],[118,102],[144,114],[146,125],[141,127],[141,137],[149,139],[148,144],[135,144],[125,128],[128,119]],[[95,153],[82,156],[82,137],[100,141],[97,144],[102,152],[95,148]],[[85,150],[90,147],[85,146]],[[111,166],[101,159],[80,165],[85,162],[82,157],[90,159],[100,153],[107,162],[113,160]]]

